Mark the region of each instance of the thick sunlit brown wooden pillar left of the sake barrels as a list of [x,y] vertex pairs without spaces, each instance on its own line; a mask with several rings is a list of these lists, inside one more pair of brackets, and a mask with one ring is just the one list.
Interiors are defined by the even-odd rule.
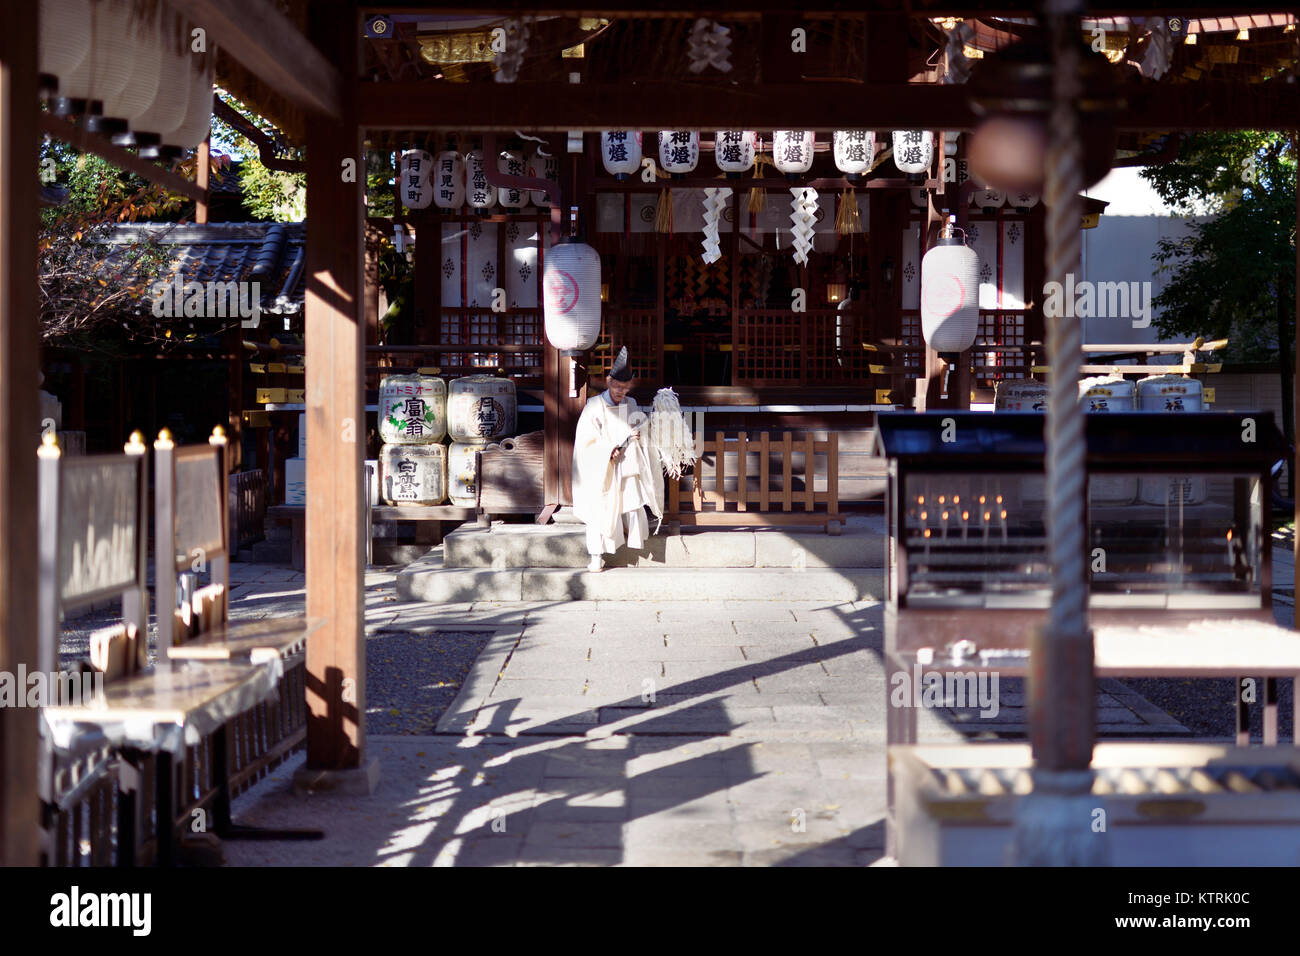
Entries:
[[351,5],[317,1],[311,39],[344,77],[342,118],[307,124],[307,769],[354,770],[365,749],[361,297],[365,157]]

